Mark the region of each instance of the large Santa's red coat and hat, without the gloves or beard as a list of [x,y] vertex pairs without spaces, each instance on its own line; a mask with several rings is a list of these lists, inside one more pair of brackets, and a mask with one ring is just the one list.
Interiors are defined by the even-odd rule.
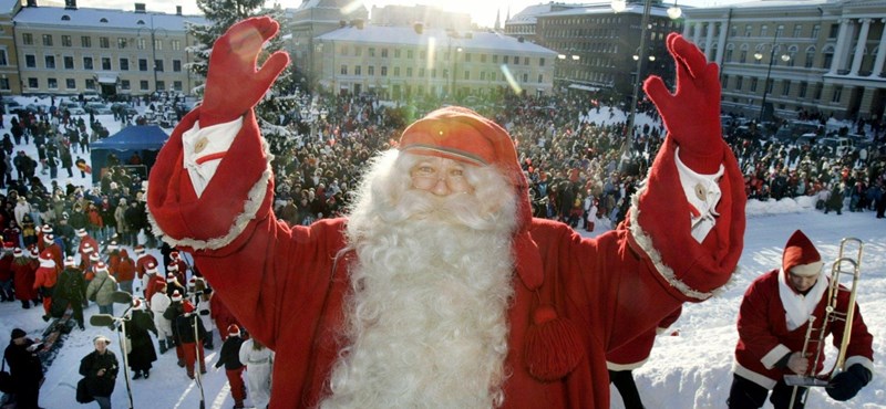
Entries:
[[[339,335],[356,262],[353,252],[342,251],[347,220],[308,227],[277,221],[270,158],[251,109],[241,127],[239,119],[233,125],[239,129],[220,155],[226,159],[215,161],[217,169],[198,195],[187,169],[193,164],[186,167],[183,158],[225,150],[204,149],[203,138],[217,132],[213,127],[192,129],[203,108],[183,118],[152,169],[147,203],[154,231],[194,254],[216,295],[255,338],[276,352],[274,384],[286,387],[272,389],[270,407],[316,407],[330,395],[332,366],[347,346]],[[441,127],[443,135],[457,126],[459,119],[439,122],[433,115],[404,132],[401,149],[404,139],[421,148],[419,134],[434,135]],[[461,144],[488,143],[490,150],[482,153],[488,155],[486,162],[503,168],[518,198],[502,407],[607,408],[607,352],[653,328],[681,303],[712,296],[734,271],[745,203],[738,164],[722,140],[705,147],[713,147],[709,159],[722,164],[724,174],[714,183],[722,191],[719,218],[699,242],[688,220],[697,211],[673,195],[683,187],[678,146],[669,137],[626,222],[586,239],[563,223],[530,217],[528,189],[509,136],[492,122],[470,116],[467,126],[476,129],[465,132],[483,141]],[[557,344],[546,343],[552,338],[563,342]]]

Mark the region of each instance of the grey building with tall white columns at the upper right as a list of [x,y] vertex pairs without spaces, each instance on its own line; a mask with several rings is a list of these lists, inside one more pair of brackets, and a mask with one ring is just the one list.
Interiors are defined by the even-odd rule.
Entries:
[[683,33],[720,64],[724,111],[761,120],[883,118],[886,1],[761,1],[684,13]]

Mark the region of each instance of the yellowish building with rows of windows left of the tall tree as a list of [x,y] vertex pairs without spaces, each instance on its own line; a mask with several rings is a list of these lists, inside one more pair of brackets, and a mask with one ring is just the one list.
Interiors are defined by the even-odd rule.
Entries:
[[29,0],[12,18],[18,84],[13,80],[2,91],[190,94],[202,78],[187,69],[192,62],[187,49],[196,43],[187,23],[202,24],[205,19],[183,15],[181,7],[175,14],[165,14],[146,12],[144,3],[122,11],[78,8],[74,0],[64,8],[38,7]]

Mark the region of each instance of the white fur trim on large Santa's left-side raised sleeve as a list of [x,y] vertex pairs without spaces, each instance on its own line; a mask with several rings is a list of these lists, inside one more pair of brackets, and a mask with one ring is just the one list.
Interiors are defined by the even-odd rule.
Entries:
[[253,188],[249,189],[246,200],[244,201],[243,212],[234,219],[234,224],[231,224],[230,230],[228,230],[225,235],[209,240],[172,238],[159,228],[157,221],[154,219],[154,214],[151,213],[151,208],[148,207],[147,219],[151,222],[153,230],[162,235],[163,241],[172,247],[184,245],[194,250],[217,250],[230,244],[235,239],[237,239],[237,237],[240,235],[240,233],[244,232],[244,230],[246,230],[246,226],[249,224],[253,219],[255,219],[256,213],[258,213],[258,209],[261,207],[261,202],[265,201],[265,196],[267,195],[268,182],[272,176],[270,162],[274,160],[274,155],[270,154],[268,143],[264,137],[261,137],[261,149],[265,151],[265,156],[267,157],[267,166],[265,167],[265,171],[261,172],[261,177],[258,179],[258,181],[256,181],[255,185],[253,185]]

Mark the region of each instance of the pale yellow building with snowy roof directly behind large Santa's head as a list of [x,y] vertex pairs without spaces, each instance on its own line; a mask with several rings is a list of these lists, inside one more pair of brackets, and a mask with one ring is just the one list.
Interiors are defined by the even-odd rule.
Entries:
[[320,86],[334,93],[403,99],[553,91],[557,53],[497,33],[365,25],[315,41]]

